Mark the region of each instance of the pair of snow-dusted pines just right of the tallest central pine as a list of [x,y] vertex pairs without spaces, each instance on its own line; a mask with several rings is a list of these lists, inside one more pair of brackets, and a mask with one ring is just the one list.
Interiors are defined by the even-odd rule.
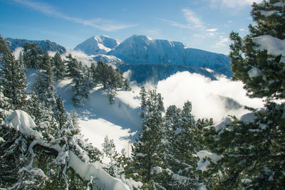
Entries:
[[[183,110],[175,106],[167,109],[166,128],[169,127],[170,142],[167,163],[172,171],[169,189],[196,189],[199,176],[195,173],[197,165],[196,153],[200,145],[195,141],[196,123],[192,115],[191,102],[185,102]],[[170,125],[170,126],[169,126]]]

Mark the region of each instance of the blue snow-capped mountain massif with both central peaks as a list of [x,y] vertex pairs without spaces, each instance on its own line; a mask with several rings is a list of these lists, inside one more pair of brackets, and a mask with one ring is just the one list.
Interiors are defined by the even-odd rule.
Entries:
[[[175,67],[177,67],[176,65],[184,65],[192,68],[210,68],[217,73],[232,76],[230,59],[227,56],[189,48],[178,41],[156,40],[147,36],[133,35],[119,43],[107,36],[93,36],[74,49],[81,50],[89,55],[103,54],[106,63],[113,62],[114,58],[118,58],[121,60],[118,65],[123,63],[152,63],[175,65]],[[112,56],[110,57],[112,60],[109,61],[108,56]],[[151,65],[147,66],[150,67]],[[172,68],[172,70],[175,69]]]

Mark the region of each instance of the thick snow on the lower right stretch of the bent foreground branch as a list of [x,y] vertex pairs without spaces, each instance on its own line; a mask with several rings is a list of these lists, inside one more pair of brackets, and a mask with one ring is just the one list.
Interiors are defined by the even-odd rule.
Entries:
[[102,164],[100,162],[95,162],[94,164],[82,162],[76,154],[69,151],[69,162],[68,166],[72,167],[77,174],[79,174],[83,179],[90,181],[95,180],[95,184],[100,187],[100,189],[105,190],[123,190],[129,189],[128,186],[123,184],[120,179],[115,179],[110,176],[105,170],[103,170]]

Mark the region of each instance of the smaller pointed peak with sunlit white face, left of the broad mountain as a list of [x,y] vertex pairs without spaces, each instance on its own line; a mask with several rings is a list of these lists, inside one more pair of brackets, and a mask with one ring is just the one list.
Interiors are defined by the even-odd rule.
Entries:
[[78,44],[74,50],[80,50],[88,55],[106,54],[112,51],[120,41],[108,36],[92,36],[83,43]]

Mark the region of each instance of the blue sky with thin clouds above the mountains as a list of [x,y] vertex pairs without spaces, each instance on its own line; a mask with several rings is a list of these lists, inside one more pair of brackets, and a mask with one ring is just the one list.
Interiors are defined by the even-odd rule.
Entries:
[[94,35],[123,41],[142,34],[227,54],[229,33],[248,33],[253,1],[0,0],[0,34],[72,49]]

